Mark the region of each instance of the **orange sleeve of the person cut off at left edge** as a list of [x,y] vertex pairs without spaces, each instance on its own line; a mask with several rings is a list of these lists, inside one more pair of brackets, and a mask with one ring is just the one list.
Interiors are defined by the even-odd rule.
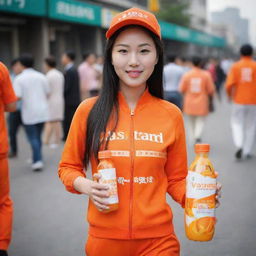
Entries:
[[0,62],[0,90],[5,105],[17,101],[14,93],[8,69]]

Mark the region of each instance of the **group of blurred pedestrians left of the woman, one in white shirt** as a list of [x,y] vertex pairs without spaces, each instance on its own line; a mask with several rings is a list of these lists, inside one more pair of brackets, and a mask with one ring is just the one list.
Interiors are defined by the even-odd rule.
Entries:
[[[19,99],[17,110],[8,116],[9,157],[18,154],[17,132],[24,127],[32,149],[32,169],[43,168],[42,143],[55,148],[66,140],[76,108],[101,87],[102,57],[84,54],[78,68],[75,54],[63,54],[59,71],[53,56],[44,60],[44,73],[36,71],[31,54],[22,54],[11,63],[11,79]],[[42,138],[41,138],[42,137]]]

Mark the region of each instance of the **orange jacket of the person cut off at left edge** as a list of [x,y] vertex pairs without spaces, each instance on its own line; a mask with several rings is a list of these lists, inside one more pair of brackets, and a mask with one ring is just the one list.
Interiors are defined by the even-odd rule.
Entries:
[[7,157],[8,136],[4,118],[4,107],[17,101],[8,69],[0,62],[0,159]]

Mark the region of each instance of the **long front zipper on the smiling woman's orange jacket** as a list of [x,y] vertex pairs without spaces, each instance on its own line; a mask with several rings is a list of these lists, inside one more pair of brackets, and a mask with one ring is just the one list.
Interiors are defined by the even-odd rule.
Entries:
[[130,206],[129,206],[129,233],[132,238],[132,213],[133,213],[133,172],[134,172],[134,111],[131,110],[131,176],[130,176]]

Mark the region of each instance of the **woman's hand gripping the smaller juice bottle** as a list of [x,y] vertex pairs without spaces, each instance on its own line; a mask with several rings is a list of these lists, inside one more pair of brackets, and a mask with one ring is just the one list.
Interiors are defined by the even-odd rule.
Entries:
[[74,181],[74,188],[78,192],[88,195],[99,211],[108,210],[109,206],[106,203],[106,198],[109,197],[109,187],[97,182],[100,179],[100,174],[94,174],[93,179],[95,181],[78,177]]

